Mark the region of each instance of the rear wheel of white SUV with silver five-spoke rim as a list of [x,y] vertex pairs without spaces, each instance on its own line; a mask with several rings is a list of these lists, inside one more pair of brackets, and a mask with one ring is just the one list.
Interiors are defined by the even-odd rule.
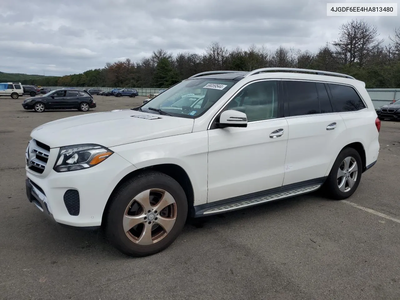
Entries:
[[360,184],[362,160],[354,148],[339,153],[325,182],[327,196],[334,200],[350,197]]

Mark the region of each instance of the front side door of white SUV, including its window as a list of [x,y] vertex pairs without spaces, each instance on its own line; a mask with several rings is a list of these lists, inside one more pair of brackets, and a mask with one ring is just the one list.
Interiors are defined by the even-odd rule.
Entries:
[[246,113],[246,128],[208,130],[207,202],[282,186],[288,123],[278,86],[278,80],[254,82],[229,102],[227,109]]

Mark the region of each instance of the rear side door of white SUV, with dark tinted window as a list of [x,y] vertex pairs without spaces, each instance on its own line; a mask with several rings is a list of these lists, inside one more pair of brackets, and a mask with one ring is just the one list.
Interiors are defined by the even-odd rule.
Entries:
[[283,185],[321,178],[346,126],[323,82],[284,80],[288,149]]

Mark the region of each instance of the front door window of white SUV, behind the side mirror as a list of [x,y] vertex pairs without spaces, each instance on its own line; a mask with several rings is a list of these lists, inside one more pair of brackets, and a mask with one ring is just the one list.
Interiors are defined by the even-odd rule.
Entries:
[[244,112],[248,122],[278,118],[278,82],[249,84],[228,103],[228,109]]

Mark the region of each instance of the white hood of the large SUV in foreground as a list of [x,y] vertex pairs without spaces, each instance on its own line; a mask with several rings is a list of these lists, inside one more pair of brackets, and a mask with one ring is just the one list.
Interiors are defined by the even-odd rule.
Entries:
[[50,148],[76,144],[118,146],[190,133],[194,119],[162,116],[135,110],[112,110],[48,122],[30,136]]

